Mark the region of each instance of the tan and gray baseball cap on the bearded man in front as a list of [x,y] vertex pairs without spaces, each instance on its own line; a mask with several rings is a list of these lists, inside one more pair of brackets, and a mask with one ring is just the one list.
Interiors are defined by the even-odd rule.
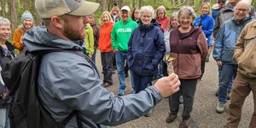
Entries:
[[84,0],[36,0],[36,9],[41,18],[59,15],[91,15],[100,6],[99,3]]

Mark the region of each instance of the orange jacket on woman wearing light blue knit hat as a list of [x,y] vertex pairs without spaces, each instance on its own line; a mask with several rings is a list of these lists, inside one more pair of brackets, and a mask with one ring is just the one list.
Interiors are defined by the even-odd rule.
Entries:
[[19,52],[24,49],[24,45],[22,43],[21,38],[24,36],[26,31],[22,30],[22,28],[17,28],[14,33],[14,39],[13,39],[13,44],[15,45],[16,49],[19,49]]

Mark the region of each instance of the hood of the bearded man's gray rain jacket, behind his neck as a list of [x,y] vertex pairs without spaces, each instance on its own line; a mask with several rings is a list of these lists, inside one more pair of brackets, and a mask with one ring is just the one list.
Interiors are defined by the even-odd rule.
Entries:
[[22,38],[22,42],[25,45],[26,50],[35,52],[55,49],[83,50],[79,44],[83,44],[84,40],[64,40],[49,33],[45,26],[36,26],[26,32]]

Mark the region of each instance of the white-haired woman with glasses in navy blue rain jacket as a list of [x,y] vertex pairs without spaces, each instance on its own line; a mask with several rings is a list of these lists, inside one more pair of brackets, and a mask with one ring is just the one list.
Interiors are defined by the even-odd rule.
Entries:
[[153,75],[166,52],[163,33],[158,22],[152,19],[154,9],[144,6],[140,9],[139,16],[141,21],[131,34],[127,57],[135,93],[152,84]]

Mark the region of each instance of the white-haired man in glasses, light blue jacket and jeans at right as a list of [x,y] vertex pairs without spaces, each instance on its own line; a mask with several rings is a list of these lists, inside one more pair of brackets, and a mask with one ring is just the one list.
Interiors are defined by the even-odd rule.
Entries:
[[217,113],[224,113],[228,88],[236,78],[237,64],[233,60],[235,44],[242,28],[253,20],[251,17],[247,17],[249,12],[250,4],[247,1],[237,3],[234,17],[225,21],[217,34],[212,54],[217,61],[219,73]]

